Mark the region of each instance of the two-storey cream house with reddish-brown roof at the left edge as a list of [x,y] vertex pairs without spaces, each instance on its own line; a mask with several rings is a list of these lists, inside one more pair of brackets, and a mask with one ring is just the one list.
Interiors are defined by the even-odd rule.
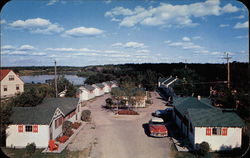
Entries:
[[24,92],[24,82],[12,70],[0,70],[1,98],[12,97]]

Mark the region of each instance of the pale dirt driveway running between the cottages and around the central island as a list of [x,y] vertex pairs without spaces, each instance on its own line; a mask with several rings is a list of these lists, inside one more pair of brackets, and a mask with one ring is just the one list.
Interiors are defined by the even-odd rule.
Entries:
[[167,158],[170,152],[169,138],[152,138],[145,133],[146,123],[157,109],[165,109],[165,103],[154,92],[153,105],[138,109],[138,116],[116,116],[101,106],[109,95],[88,102],[93,122],[96,125],[97,142],[92,148],[91,158]]

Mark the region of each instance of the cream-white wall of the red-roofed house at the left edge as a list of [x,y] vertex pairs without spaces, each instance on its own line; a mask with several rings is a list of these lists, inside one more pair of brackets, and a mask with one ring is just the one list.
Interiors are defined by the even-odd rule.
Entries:
[[[14,80],[9,80],[9,75],[14,76]],[[19,84],[19,90],[16,90],[16,85]],[[7,91],[4,91],[4,85],[7,85]],[[17,77],[17,75],[10,71],[8,75],[1,81],[1,98],[3,97],[11,97],[16,93],[22,93],[24,91],[24,83],[23,81]]]

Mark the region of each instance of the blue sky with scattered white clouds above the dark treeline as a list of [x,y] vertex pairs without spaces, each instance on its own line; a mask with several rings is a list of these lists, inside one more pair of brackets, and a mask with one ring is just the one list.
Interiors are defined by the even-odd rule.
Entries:
[[1,66],[249,62],[248,19],[236,0],[12,0]]

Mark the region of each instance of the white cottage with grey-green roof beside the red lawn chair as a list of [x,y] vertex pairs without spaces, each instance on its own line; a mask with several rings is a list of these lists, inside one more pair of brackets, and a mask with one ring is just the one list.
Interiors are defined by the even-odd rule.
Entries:
[[49,140],[62,135],[63,123],[79,121],[80,114],[78,98],[45,98],[36,107],[13,107],[6,147],[25,148],[34,142],[37,148],[46,148]]

